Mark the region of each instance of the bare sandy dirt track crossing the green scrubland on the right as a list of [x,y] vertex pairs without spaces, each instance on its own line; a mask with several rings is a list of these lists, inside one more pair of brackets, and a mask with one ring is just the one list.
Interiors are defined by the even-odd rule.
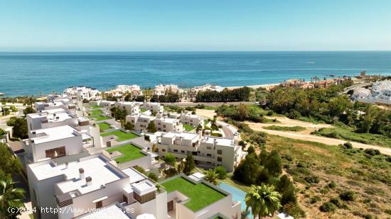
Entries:
[[[250,123],[247,122],[247,124],[252,128],[253,130],[257,131],[262,131],[264,133],[268,133],[270,135],[279,135],[282,137],[290,137],[293,139],[297,140],[306,140],[306,141],[311,141],[311,142],[319,142],[323,143],[325,145],[340,145],[345,142],[346,140],[340,140],[336,138],[331,138],[331,137],[321,137],[317,135],[311,135],[310,133],[314,130],[317,130],[318,128],[329,128],[332,127],[331,125],[328,124],[313,124],[313,123],[306,123],[302,122],[299,120],[291,120],[289,118],[284,118],[284,117],[275,117],[275,116],[268,116],[268,118],[277,118],[281,123]],[[267,130],[264,129],[263,127],[269,126],[269,125],[279,125],[279,126],[302,126],[305,127],[306,130],[301,131],[301,132],[285,132],[285,131],[279,131],[279,130]],[[351,142],[353,147],[357,148],[373,148],[380,150],[385,155],[391,155],[391,148],[387,147],[380,147],[377,145],[365,145],[360,142]]]

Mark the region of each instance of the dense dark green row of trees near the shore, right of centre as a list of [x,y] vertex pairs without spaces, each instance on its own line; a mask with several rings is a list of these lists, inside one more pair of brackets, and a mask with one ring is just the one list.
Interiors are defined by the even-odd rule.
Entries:
[[196,102],[232,102],[247,101],[251,89],[247,86],[238,89],[224,89],[223,91],[199,91],[195,96]]

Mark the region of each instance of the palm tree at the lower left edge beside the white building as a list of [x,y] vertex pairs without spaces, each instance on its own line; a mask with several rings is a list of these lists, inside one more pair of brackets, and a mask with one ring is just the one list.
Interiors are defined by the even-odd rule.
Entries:
[[10,213],[9,208],[24,207],[24,190],[15,188],[11,176],[0,174],[0,214],[4,218],[15,218],[18,213]]

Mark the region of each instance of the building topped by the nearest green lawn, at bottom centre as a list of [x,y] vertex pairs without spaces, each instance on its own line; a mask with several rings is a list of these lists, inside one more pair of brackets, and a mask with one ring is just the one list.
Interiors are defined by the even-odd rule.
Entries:
[[208,181],[184,174],[161,181],[167,192],[168,218],[206,219],[241,216],[240,201]]

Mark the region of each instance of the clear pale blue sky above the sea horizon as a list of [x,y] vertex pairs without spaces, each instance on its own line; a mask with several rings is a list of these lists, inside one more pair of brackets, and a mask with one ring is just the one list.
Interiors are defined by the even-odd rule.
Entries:
[[0,0],[0,51],[391,50],[390,0]]

